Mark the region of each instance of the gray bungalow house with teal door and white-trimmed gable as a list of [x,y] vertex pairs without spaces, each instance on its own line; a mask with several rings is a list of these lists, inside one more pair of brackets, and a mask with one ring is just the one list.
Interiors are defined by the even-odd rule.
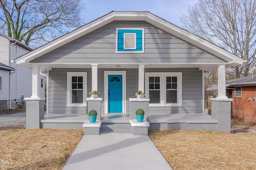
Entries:
[[[100,106],[100,131],[120,133],[130,131],[133,102],[141,102],[135,105],[145,109],[149,129],[230,131],[223,118],[225,109],[230,115],[225,68],[242,62],[150,12],[110,12],[15,59],[33,70],[27,128],[81,129],[88,111]],[[210,116],[204,114],[204,72],[212,70],[219,72],[219,96]],[[46,115],[40,72],[48,75]],[[100,94],[90,107],[92,90]],[[138,90],[145,99],[136,100]]]

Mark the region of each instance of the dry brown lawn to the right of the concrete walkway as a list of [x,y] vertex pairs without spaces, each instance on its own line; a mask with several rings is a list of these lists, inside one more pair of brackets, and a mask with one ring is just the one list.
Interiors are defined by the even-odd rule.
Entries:
[[255,170],[256,133],[150,131],[174,170]]

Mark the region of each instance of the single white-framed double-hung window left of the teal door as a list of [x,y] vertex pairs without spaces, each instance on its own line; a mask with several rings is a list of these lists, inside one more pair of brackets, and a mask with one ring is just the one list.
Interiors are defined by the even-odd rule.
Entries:
[[86,106],[87,96],[87,73],[68,72],[67,73],[67,106]]

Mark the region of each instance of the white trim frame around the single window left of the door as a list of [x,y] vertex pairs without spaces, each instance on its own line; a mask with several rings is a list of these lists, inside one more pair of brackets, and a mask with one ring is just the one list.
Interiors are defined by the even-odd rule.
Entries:
[[[71,104],[72,76],[83,76],[83,103]],[[87,72],[67,72],[67,107],[85,107],[87,106]]]

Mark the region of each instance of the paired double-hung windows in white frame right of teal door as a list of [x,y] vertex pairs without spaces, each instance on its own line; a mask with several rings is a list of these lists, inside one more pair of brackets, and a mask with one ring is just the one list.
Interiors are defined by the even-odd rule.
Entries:
[[146,72],[150,106],[182,106],[182,72]]

